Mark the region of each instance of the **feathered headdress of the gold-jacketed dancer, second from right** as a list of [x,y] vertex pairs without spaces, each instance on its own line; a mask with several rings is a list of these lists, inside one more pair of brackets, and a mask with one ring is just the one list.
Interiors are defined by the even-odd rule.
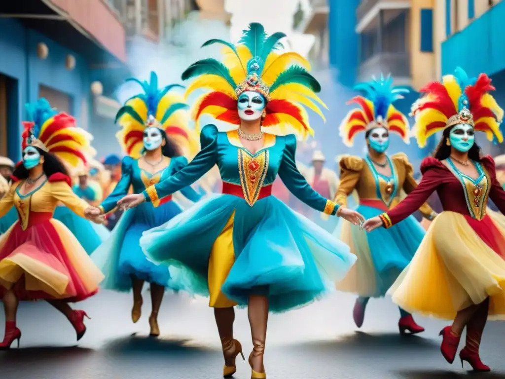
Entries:
[[402,93],[408,93],[407,88],[393,87],[393,78],[389,75],[380,80],[373,79],[360,83],[355,87],[364,96],[356,96],[347,104],[356,103],[360,108],[354,108],[340,123],[340,136],[346,146],[352,146],[356,134],[376,127],[384,127],[390,132],[397,133],[408,144],[409,120],[393,106],[393,102],[403,99]]

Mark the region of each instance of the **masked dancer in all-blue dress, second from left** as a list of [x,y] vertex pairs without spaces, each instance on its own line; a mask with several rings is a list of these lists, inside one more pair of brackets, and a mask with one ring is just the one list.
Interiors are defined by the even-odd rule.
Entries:
[[[121,179],[99,206],[101,214],[113,211],[116,202],[128,194],[131,185],[134,193],[139,194],[182,169],[187,159],[181,152],[191,155],[198,150],[198,142],[191,138],[191,131],[187,128],[187,104],[183,95],[174,91],[182,86],[174,84],[159,89],[154,72],[150,74],[150,82],[129,80],[139,83],[144,93],[129,99],[116,116],[122,126],[117,137],[127,156],[123,158]],[[190,186],[181,188],[181,193],[193,202],[201,197]],[[180,206],[170,197],[157,208],[144,204],[132,209],[123,214],[109,241],[92,256],[106,275],[103,288],[124,292],[133,289],[133,322],[137,322],[141,315],[144,282],[150,283],[151,336],[160,335],[158,311],[165,289],[170,287],[170,273],[166,266],[157,266],[146,259],[139,240],[144,230],[160,226],[180,212]]]

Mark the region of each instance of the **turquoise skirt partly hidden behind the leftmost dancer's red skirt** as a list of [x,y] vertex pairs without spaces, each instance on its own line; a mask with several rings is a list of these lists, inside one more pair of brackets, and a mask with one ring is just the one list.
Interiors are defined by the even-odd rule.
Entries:
[[88,255],[106,241],[111,234],[105,225],[95,224],[79,217],[64,206],[56,207],[53,217],[69,228]]

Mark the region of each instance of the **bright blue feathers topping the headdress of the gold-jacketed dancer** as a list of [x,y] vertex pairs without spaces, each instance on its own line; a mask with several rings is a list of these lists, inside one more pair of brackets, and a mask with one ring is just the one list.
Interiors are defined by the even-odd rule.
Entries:
[[363,96],[374,104],[375,117],[381,116],[386,118],[389,106],[396,100],[403,99],[402,93],[409,93],[409,89],[393,86],[393,78],[391,75],[369,82],[359,83],[355,86],[355,90],[362,92]]

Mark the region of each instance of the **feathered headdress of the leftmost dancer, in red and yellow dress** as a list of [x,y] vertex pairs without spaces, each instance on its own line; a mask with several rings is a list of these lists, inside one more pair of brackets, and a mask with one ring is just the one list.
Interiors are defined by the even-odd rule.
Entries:
[[51,108],[45,99],[26,104],[28,119],[24,126],[23,150],[35,146],[56,155],[71,167],[86,165],[96,153],[91,148],[91,134],[76,126],[72,116]]

